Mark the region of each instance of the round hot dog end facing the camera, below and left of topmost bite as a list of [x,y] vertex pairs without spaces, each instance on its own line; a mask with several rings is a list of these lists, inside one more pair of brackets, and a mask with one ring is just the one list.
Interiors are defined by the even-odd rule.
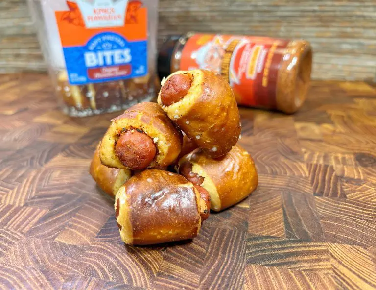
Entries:
[[145,133],[129,130],[120,135],[115,152],[126,167],[141,170],[153,161],[157,148],[153,140]]

